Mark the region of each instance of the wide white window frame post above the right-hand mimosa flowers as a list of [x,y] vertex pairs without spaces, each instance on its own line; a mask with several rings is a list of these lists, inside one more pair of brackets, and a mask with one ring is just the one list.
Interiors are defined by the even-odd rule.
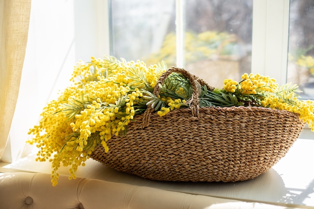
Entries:
[[289,0],[254,0],[252,73],[287,82]]

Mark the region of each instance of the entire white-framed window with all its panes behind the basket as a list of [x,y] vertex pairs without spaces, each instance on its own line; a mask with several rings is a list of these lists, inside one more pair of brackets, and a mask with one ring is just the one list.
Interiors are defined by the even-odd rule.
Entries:
[[313,1],[111,0],[110,5],[116,57],[146,64],[164,60],[215,87],[224,78],[259,72],[280,84],[298,84],[304,99],[314,97]]

